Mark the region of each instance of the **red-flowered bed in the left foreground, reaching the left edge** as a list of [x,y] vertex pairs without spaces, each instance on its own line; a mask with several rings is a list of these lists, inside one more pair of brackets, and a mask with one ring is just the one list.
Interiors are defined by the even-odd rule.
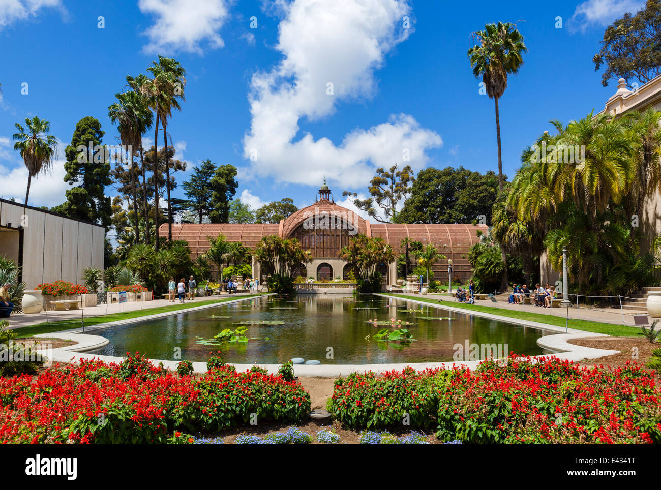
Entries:
[[0,444],[165,443],[176,430],[217,431],[258,421],[298,422],[310,409],[298,382],[231,366],[175,376],[144,357],[85,361],[0,379]]

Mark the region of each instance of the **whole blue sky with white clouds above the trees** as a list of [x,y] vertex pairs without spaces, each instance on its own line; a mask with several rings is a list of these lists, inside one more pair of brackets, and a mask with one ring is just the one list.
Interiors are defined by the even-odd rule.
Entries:
[[[615,93],[614,81],[602,87],[592,57],[604,27],[642,4],[0,0],[0,196],[24,199],[15,122],[45,118],[64,147],[75,123],[93,116],[104,142],[116,144],[107,108],[126,75],[145,73],[158,54],[187,71],[186,102],[168,127],[176,156],[188,162],[179,183],[210,158],[239,168],[243,201],[292,197],[303,206],[324,175],[342,201],[342,190],[364,194],[375,168],[394,162],[496,170],[494,102],[479,94],[466,52],[471,32],[498,20],[518,21],[528,47],[500,100],[512,178],[549,120],[598,112]],[[65,200],[62,158],[32,181],[31,205]]]

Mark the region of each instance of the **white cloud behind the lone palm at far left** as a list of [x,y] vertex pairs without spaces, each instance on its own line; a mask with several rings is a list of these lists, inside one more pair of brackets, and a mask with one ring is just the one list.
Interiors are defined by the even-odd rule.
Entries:
[[[64,170],[64,149],[67,145],[58,139],[58,160],[53,163],[52,172],[40,174],[30,182],[30,196],[28,205],[53,207],[66,200],[65,191],[71,185],[64,182],[67,174]],[[0,137],[0,158],[9,160],[11,166],[0,165],[0,182],[3,182],[3,199],[16,199],[25,201],[25,192],[28,188],[28,170],[19,157],[19,152],[13,151],[13,145],[8,137]]]

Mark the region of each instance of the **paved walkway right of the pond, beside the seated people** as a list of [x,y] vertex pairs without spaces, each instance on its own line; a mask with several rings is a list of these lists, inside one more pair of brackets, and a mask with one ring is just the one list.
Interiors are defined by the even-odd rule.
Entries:
[[[393,293],[397,294],[397,293]],[[399,295],[399,294],[397,294]],[[408,294],[408,296],[414,296],[420,298],[421,301],[436,300],[442,299],[447,304],[451,305],[454,303],[454,298],[450,298],[447,294],[429,294],[429,295],[420,295],[420,294]],[[528,313],[539,313],[545,315],[558,316],[560,318],[566,318],[567,314],[572,320],[592,320],[593,322],[602,322],[607,324],[614,325],[629,325],[635,326],[633,316],[635,314],[647,314],[647,312],[635,311],[635,310],[620,310],[620,308],[597,308],[597,307],[584,307],[572,304],[567,308],[541,308],[540,306],[533,306],[532,304],[508,304],[508,297],[506,295],[498,295],[496,297],[498,302],[492,302],[492,300],[475,300],[475,304],[479,306],[488,306],[490,308],[503,308],[505,310],[513,311],[523,311]],[[650,319],[651,320],[651,319]]]

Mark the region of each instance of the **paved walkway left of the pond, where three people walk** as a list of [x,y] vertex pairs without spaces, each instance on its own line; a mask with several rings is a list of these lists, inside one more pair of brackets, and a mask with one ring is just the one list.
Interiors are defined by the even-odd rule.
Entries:
[[[196,297],[192,300],[192,303],[199,303],[202,301],[208,300],[219,300],[223,298],[234,298],[242,297],[254,294],[254,291],[245,291],[237,293],[236,295],[228,295],[227,293],[222,293],[221,295],[214,295],[208,297]],[[190,304],[190,300],[186,300],[186,304]],[[125,313],[137,310],[151,310],[152,308],[160,308],[161,306],[169,306],[173,304],[180,304],[179,300],[176,299],[175,302],[169,302],[167,299],[155,299],[151,301],[131,301],[122,304],[98,304],[97,306],[91,306],[89,308],[82,308],[76,310],[63,310],[63,311],[49,311],[49,312],[40,312],[40,313],[21,313],[17,315],[12,315],[9,317],[9,329],[28,327],[31,325],[36,325],[44,322],[71,322],[71,328],[76,328],[81,324],[81,316],[89,318],[91,316],[99,316],[112,313]]]

